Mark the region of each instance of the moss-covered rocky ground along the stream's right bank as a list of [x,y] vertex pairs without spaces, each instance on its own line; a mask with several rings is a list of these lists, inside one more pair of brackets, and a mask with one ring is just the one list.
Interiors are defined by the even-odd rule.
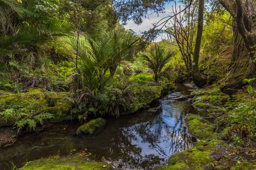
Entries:
[[[159,166],[159,170],[252,170],[255,165],[253,148],[243,148],[227,144],[223,136],[232,133],[229,124],[230,97],[217,88],[200,89],[192,93],[193,105],[198,109],[208,109],[208,114],[223,112],[214,123],[206,121],[199,115],[189,114],[185,118],[188,132],[199,141],[183,152],[173,154],[167,166]],[[228,111],[230,110],[230,111]],[[228,111],[228,112],[224,112]],[[219,126],[227,126],[218,130]],[[226,138],[227,139],[227,138]],[[230,141],[227,139],[227,141]],[[240,140],[242,141],[242,140]],[[234,144],[234,143],[233,143]],[[235,143],[237,144],[237,143]],[[240,143],[241,144],[241,143]],[[244,153],[247,154],[244,154]]]

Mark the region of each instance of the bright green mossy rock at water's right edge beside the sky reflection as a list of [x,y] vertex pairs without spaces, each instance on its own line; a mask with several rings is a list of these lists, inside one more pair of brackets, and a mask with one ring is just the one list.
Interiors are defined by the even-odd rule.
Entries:
[[214,132],[214,125],[200,117],[189,114],[185,118],[185,123],[191,135],[200,139],[217,138]]

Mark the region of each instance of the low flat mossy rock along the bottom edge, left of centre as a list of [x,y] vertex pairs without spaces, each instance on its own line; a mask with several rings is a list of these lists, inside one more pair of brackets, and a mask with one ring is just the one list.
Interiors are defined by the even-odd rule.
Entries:
[[111,170],[111,164],[95,162],[81,157],[79,154],[64,158],[47,158],[28,163],[20,170]]

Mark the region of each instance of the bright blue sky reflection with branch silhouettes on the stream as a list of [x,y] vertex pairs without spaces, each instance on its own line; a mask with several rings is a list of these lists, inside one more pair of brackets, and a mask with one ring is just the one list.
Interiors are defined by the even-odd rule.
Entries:
[[161,113],[156,119],[125,130],[134,136],[131,144],[141,149],[141,156],[153,154],[168,159],[171,154],[189,147],[187,139],[183,138],[184,103],[170,103],[168,100],[161,103]]

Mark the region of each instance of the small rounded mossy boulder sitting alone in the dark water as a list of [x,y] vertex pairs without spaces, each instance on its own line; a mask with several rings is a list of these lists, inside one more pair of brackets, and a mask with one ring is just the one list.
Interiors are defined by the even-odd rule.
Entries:
[[102,118],[93,119],[77,129],[77,134],[94,135],[102,131],[106,125],[106,120]]

